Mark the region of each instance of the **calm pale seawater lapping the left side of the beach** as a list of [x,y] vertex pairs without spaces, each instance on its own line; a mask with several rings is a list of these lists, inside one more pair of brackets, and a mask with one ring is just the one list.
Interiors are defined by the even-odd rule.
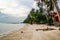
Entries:
[[10,31],[18,30],[24,27],[25,24],[8,24],[8,23],[0,23],[0,35],[5,34]]

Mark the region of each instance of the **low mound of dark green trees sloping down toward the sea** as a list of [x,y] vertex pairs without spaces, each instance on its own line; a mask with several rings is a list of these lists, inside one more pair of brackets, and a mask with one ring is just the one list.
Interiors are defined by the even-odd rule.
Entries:
[[46,16],[43,15],[41,12],[39,12],[39,10],[34,11],[34,9],[32,9],[24,22],[25,23],[40,23],[40,22],[46,23],[47,21],[46,21]]

